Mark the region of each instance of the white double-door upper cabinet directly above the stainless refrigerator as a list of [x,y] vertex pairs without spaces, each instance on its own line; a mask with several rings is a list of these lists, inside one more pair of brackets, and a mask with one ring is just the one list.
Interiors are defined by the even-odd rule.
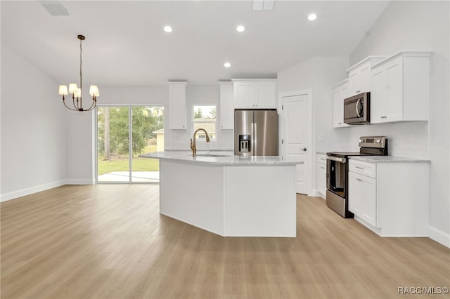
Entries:
[[276,109],[276,79],[232,79],[235,109]]

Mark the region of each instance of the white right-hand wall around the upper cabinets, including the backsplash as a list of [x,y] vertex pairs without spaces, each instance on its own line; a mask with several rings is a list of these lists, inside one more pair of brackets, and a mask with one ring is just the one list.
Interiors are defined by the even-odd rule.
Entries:
[[430,121],[351,128],[350,138],[384,132],[390,137],[391,154],[429,157],[430,237],[447,246],[450,246],[449,15],[449,1],[392,1],[350,56],[354,64],[368,55],[433,51]]

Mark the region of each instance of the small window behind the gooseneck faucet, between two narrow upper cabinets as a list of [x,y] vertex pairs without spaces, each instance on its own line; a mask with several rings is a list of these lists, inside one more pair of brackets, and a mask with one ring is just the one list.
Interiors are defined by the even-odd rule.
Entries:
[[[216,106],[215,105],[193,105],[193,132],[198,128],[204,128],[210,140],[216,139]],[[205,140],[203,131],[198,131],[196,140]]]

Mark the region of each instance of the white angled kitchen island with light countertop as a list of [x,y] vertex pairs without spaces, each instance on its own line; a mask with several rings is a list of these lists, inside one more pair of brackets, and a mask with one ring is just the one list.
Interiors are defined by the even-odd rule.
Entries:
[[282,157],[156,152],[160,213],[233,237],[295,237],[295,165]]

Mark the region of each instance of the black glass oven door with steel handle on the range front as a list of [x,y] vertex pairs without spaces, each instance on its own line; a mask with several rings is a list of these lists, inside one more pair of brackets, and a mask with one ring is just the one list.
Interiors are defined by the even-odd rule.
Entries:
[[346,198],[345,178],[347,159],[344,157],[326,157],[326,189]]

